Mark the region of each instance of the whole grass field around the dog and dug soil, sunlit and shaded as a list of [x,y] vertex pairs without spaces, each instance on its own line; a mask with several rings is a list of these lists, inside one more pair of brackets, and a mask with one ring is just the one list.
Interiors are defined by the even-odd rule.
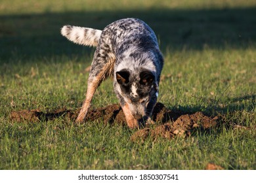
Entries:
[[[204,169],[207,163],[256,169],[256,3],[100,2],[0,2],[0,169]],[[138,144],[130,141],[136,130],[100,120],[9,119],[13,110],[81,106],[94,48],[61,37],[62,25],[102,29],[131,16],[148,23],[160,40],[159,101],[173,110],[220,114],[223,126]],[[109,79],[93,107],[112,103],[117,99]]]

